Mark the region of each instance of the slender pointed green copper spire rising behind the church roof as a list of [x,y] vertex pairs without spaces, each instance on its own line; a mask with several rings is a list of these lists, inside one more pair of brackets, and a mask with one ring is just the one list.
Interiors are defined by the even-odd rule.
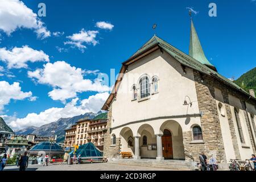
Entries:
[[209,68],[217,71],[214,65],[210,64],[204,55],[203,48],[201,47],[200,40],[196,34],[196,29],[191,18],[191,32],[190,32],[190,43],[189,43],[189,56],[193,57],[202,64],[207,65]]

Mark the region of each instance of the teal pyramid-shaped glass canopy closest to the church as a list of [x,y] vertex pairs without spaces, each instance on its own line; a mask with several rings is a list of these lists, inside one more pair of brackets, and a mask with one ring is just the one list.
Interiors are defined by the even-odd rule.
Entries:
[[[75,153],[76,156],[81,155],[82,158],[102,156],[102,152],[92,142],[79,146]],[[69,152],[69,155],[73,157],[73,152]]]

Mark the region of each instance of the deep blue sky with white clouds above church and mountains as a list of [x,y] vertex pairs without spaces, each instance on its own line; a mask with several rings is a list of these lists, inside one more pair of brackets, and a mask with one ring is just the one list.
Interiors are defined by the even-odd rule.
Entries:
[[[37,14],[40,2],[46,4],[46,17],[34,15],[33,19],[29,10]],[[5,11],[0,14],[0,83],[6,90],[13,90],[6,93],[8,98],[0,92],[0,115],[18,129],[97,111],[108,89],[98,85],[93,73],[109,75],[113,68],[117,74],[121,63],[155,32],[188,53],[190,20],[186,7],[198,12],[193,14],[193,21],[210,62],[225,77],[238,78],[256,66],[256,1],[214,1],[217,17],[208,15],[210,2],[2,0],[0,9]],[[13,17],[11,11],[20,14]],[[110,27],[97,27],[97,22]],[[90,35],[81,40],[75,35],[81,33]],[[25,65],[8,62],[26,45],[26,51],[35,53],[38,59],[33,63],[23,61]],[[49,79],[52,69],[59,74]],[[65,80],[69,74],[75,74],[77,84],[89,82],[88,86],[71,90],[76,86],[68,83],[72,80]]]

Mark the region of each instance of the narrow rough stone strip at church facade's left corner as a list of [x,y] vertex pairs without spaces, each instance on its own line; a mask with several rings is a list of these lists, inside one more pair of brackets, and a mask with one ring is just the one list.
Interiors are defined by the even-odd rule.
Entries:
[[119,152],[119,149],[120,149],[120,138],[116,138],[116,144],[112,145],[111,123],[112,123],[112,105],[109,107],[109,111],[108,111],[108,124],[107,124],[108,130],[104,134],[103,156],[106,158],[112,158],[113,155]]

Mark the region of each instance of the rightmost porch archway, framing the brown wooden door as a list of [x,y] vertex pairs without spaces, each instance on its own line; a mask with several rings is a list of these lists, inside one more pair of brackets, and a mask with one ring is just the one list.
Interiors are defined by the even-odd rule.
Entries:
[[160,126],[162,134],[163,156],[165,159],[185,160],[183,133],[180,124],[168,120]]

